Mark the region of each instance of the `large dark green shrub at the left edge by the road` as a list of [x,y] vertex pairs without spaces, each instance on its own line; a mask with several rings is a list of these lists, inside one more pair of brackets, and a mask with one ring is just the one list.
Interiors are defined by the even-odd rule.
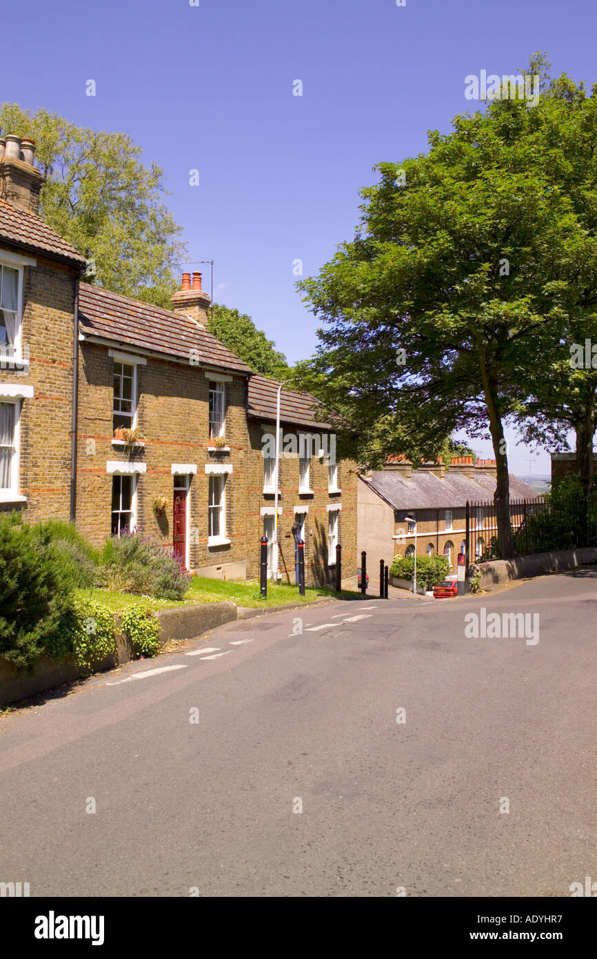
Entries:
[[0,517],[0,584],[0,655],[31,670],[58,643],[71,583],[57,550],[15,513]]

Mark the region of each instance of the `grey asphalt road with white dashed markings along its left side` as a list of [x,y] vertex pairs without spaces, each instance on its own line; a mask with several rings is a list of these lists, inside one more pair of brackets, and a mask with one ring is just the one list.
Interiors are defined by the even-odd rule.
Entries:
[[[0,881],[569,896],[597,879],[596,597],[581,571],[293,610],[1,718]],[[481,606],[539,614],[539,642],[468,638]]]

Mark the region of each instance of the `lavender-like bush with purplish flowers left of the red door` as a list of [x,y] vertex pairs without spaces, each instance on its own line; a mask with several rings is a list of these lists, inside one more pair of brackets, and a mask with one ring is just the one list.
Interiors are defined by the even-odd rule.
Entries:
[[162,599],[182,599],[189,590],[191,577],[180,569],[172,551],[139,533],[106,540],[102,564],[113,590]]

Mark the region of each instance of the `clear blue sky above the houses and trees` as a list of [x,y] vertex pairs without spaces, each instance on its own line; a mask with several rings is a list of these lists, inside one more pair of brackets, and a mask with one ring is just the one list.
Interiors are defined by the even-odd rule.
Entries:
[[[5,4],[0,98],[129,133],[165,171],[189,267],[213,259],[218,302],[292,362],[316,343],[294,261],[310,275],[352,238],[374,164],[448,131],[468,74],[515,73],[540,49],[555,74],[597,81],[596,0],[195,2]],[[513,472],[549,472],[510,439]]]

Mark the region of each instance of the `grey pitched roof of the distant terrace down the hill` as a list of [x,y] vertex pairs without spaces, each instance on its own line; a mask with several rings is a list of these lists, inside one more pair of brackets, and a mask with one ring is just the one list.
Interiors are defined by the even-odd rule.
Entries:
[[[513,499],[536,500],[537,490],[522,479],[510,476],[510,496]],[[394,509],[435,509],[466,506],[467,500],[490,500],[495,492],[495,478],[489,472],[479,471],[474,479],[463,476],[459,470],[448,470],[440,479],[428,470],[417,470],[410,479],[400,470],[380,470],[372,473],[366,482]]]

